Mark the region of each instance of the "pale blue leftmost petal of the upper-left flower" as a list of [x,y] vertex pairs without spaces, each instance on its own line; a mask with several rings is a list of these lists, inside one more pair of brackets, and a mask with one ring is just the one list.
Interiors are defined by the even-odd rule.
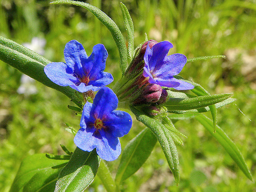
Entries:
[[46,76],[57,85],[75,85],[79,80],[73,76],[73,70],[63,62],[52,62],[44,68]]

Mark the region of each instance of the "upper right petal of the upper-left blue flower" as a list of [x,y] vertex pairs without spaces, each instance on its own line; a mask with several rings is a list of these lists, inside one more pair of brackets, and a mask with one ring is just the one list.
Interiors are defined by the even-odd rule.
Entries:
[[97,44],[92,49],[92,54],[83,63],[83,71],[88,74],[90,81],[97,80],[97,76],[106,67],[108,53],[104,45]]

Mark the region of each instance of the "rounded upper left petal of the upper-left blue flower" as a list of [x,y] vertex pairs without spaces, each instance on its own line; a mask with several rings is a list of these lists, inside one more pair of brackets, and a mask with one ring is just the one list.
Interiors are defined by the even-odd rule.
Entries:
[[76,73],[79,78],[85,76],[82,65],[85,63],[88,56],[81,43],[77,40],[71,40],[69,43],[66,43],[64,58],[66,64],[73,69],[74,73]]

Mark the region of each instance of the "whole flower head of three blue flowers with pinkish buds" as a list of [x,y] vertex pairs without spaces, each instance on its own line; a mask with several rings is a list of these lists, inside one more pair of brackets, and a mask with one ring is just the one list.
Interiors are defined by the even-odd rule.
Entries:
[[74,138],[77,147],[88,152],[96,148],[97,154],[107,161],[117,159],[121,153],[118,137],[128,134],[132,126],[130,114],[116,110],[120,100],[137,106],[146,104],[145,110],[155,116],[161,111],[157,106],[168,98],[162,86],[176,90],[194,88],[173,77],[183,69],[187,58],[179,53],[167,56],[172,47],[168,41],[144,43],[114,91],[105,87],[113,81],[113,76],[104,72],[108,53],[102,44],[95,45],[88,57],[83,45],[71,40],[64,49],[66,63],[52,62],[45,66],[47,77],[57,85],[70,86],[92,95],[92,99],[91,92],[97,91],[93,102],[86,101],[83,107],[81,128]]

